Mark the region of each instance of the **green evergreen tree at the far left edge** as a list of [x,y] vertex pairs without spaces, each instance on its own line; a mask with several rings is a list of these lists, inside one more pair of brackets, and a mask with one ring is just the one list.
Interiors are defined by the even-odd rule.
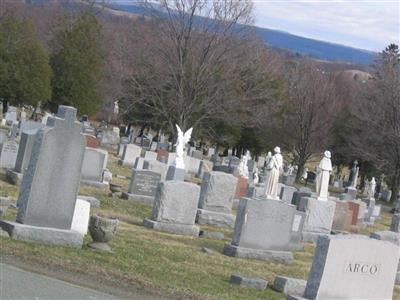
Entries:
[[48,56],[28,20],[9,15],[0,20],[0,98],[36,105],[51,97]]

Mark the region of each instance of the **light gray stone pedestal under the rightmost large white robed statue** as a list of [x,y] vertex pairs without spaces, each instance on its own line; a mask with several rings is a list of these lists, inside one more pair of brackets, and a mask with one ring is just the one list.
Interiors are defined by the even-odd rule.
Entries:
[[331,233],[335,207],[335,202],[331,200],[321,201],[311,197],[300,199],[298,209],[306,213],[303,228],[304,242],[315,243],[320,235]]

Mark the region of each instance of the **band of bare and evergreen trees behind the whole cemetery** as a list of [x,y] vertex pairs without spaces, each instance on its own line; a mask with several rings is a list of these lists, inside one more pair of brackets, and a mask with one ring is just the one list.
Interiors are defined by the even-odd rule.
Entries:
[[[251,1],[160,0],[124,17],[98,4],[0,9],[0,98],[58,104],[120,122],[194,136],[254,155],[280,145],[302,174],[313,154],[360,161],[400,185],[399,48],[367,72],[332,72],[268,48]],[[9,7],[8,7],[9,8]],[[35,30],[35,27],[37,30]],[[338,75],[341,74],[341,75]]]

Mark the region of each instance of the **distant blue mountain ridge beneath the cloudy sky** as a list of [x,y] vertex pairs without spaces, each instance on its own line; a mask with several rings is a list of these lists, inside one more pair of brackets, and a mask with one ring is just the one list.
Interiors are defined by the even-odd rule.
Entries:
[[[146,8],[135,4],[113,4],[111,8],[134,14],[147,14]],[[254,28],[270,47],[289,50],[316,59],[370,65],[378,56],[378,53],[368,50],[305,38],[279,30],[257,26]]]

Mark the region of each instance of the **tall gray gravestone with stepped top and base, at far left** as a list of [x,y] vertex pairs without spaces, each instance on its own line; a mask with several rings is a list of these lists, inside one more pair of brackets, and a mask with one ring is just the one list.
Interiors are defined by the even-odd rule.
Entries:
[[35,137],[18,196],[16,222],[2,222],[12,238],[80,247],[83,236],[71,230],[85,151],[76,109],[59,106],[56,117]]

